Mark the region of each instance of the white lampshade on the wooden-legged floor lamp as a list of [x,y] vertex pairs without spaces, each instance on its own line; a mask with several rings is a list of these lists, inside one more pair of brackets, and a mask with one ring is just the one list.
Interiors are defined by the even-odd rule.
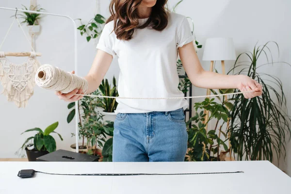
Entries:
[[232,38],[208,38],[204,48],[203,61],[236,60]]

